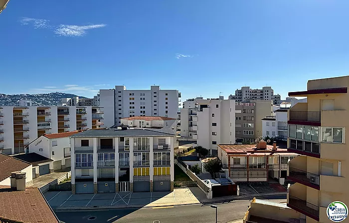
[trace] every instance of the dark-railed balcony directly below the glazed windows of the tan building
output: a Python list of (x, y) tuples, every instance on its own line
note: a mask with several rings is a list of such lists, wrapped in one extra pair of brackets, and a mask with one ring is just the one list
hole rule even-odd
[(289, 152), (320, 158), (320, 143), (289, 139)]

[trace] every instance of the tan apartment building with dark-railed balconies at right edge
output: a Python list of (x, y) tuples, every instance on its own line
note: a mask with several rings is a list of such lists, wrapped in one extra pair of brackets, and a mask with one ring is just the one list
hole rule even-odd
[(306, 215), (307, 223), (332, 222), (327, 207), (334, 201), (349, 205), (348, 86), (349, 76), (310, 80), (307, 91), (289, 93), (307, 103), (288, 113), (288, 150), (302, 156), (289, 162), (288, 178), (296, 183), (287, 206)]

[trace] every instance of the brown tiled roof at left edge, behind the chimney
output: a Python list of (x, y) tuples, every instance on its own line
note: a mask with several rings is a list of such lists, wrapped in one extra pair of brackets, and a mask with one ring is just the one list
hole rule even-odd
[(30, 166), (30, 163), (0, 153), (0, 181), (11, 176), (11, 172), (21, 171)]

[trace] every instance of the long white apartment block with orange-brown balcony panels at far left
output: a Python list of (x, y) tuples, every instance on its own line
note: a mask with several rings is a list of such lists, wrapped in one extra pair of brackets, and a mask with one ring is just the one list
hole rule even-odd
[(90, 106), (0, 107), (0, 150), (24, 152), (42, 134), (100, 128), (102, 120), (103, 110)]

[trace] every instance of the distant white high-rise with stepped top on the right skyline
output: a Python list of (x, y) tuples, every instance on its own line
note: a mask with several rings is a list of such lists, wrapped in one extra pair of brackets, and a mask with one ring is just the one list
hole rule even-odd
[(246, 102), (250, 100), (257, 101), (273, 101), (274, 105), (280, 105), (281, 96), (274, 95), (274, 90), (271, 87), (263, 87), (262, 89), (251, 89), (250, 87), (241, 87), (236, 89), (235, 95), (229, 95), (229, 99), (236, 102)]

